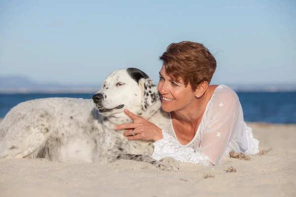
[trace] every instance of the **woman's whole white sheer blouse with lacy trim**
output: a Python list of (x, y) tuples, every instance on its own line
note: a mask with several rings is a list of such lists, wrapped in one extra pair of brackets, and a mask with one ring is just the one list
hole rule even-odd
[(247, 155), (259, 153), (259, 141), (244, 122), (243, 110), (236, 93), (220, 85), (209, 100), (194, 138), (186, 145), (179, 143), (171, 120), (163, 139), (154, 142), (152, 158), (173, 157), (182, 163), (222, 164), (230, 151)]

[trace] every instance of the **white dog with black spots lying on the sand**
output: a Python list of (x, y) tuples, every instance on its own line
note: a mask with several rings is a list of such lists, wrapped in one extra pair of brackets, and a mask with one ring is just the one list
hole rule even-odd
[(13, 107), (0, 123), (0, 157), (101, 164), (126, 159), (178, 169), (172, 158), (150, 157), (152, 141), (129, 141), (123, 131), (114, 130), (115, 125), (133, 122), (125, 108), (161, 129), (170, 126), (169, 114), (161, 110), (157, 87), (148, 75), (137, 68), (119, 69), (92, 100), (34, 99)]

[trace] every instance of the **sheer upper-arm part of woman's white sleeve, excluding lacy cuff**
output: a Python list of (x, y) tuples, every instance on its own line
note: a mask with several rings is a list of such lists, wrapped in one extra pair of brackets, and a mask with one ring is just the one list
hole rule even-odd
[(223, 90), (222, 88), (218, 87), (219, 94), (216, 93), (208, 109), (209, 114), (205, 119), (199, 146), (199, 150), (206, 154), (214, 165), (222, 163), (224, 152), (234, 131), (237, 131), (238, 124), (243, 122), (241, 105), (236, 93), (228, 87)]

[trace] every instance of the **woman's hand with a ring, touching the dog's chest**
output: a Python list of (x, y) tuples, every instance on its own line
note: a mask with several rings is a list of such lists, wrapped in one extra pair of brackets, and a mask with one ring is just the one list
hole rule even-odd
[[(115, 130), (126, 130), (122, 134), (126, 136), (128, 140), (153, 140), (157, 141), (163, 138), (162, 131), (153, 123), (150, 123), (148, 120), (133, 114), (129, 110), (125, 109), (124, 113), (133, 119), (134, 123), (127, 123), (123, 125), (115, 126)], [(133, 134), (133, 131), (135, 135)]]

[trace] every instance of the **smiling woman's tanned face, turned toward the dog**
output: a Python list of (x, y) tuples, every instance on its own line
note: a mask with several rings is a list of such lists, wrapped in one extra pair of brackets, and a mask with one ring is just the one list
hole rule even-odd
[(174, 81), (166, 75), (165, 66), (162, 66), (159, 72), (157, 89), (161, 97), (161, 107), (166, 112), (185, 109), (195, 97), (190, 84), (185, 87), (181, 79)]

